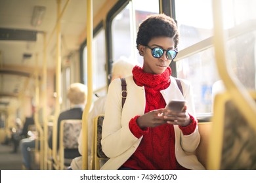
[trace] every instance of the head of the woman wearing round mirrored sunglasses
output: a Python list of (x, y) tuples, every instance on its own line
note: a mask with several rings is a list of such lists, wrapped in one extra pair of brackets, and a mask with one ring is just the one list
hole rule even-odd
[(177, 56), (179, 33), (175, 21), (165, 14), (153, 14), (144, 20), (137, 33), (137, 49), (143, 57), (143, 71), (160, 75)]

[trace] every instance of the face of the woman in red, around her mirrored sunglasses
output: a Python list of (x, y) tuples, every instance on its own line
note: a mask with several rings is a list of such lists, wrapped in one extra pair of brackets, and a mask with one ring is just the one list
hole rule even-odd
[(154, 58), (152, 50), (147, 46), (150, 48), (162, 48), (163, 50), (174, 50), (175, 42), (171, 37), (154, 37), (148, 42), (148, 45), (139, 45), (140, 54), (144, 56), (143, 71), (153, 75), (160, 75), (169, 67), (171, 60), (166, 58), (166, 51), (160, 58)]

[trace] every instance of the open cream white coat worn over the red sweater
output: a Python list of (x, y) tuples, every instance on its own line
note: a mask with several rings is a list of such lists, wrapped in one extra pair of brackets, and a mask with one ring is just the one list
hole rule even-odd
[[(111, 82), (106, 101), (106, 112), (102, 129), (102, 150), (110, 159), (101, 169), (118, 169), (131, 157), (143, 137), (137, 139), (129, 129), (129, 121), (137, 115), (144, 114), (146, 105), (144, 87), (137, 86), (133, 76), (126, 78), (127, 99), (123, 109), (121, 107), (121, 80)], [(192, 88), (186, 80), (181, 80), (184, 97), (180, 92), (175, 78), (171, 76), (171, 84), (161, 91), (165, 103), (172, 99), (185, 99), (187, 110), (194, 115)], [(204, 169), (194, 155), (200, 143), (198, 127), (194, 133), (183, 135), (178, 125), (175, 128), (175, 155), (177, 161), (187, 169)]]

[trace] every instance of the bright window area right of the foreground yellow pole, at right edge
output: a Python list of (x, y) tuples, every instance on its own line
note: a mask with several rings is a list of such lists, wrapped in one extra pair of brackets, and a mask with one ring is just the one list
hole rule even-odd
[[(255, 90), (255, 1), (223, 1), (224, 24), (228, 25), (228, 67), (248, 90)], [(233, 34), (235, 33), (235, 34)]]

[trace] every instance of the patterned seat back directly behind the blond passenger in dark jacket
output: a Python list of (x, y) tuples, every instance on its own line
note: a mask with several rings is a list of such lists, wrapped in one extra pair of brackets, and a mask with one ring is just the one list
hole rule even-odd
[[(78, 142), (79, 133), (82, 127), (82, 120), (62, 120), (60, 122), (60, 140), (59, 140), (59, 165), (61, 170), (65, 166), (69, 166), (72, 159), (64, 158), (64, 151), (77, 149), (78, 152)], [(78, 155), (77, 155), (78, 156)]]

